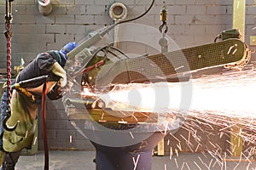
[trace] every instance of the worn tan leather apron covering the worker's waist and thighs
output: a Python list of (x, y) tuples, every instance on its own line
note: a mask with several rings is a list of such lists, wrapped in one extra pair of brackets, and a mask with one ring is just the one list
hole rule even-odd
[(24, 148), (30, 148), (34, 139), (37, 126), (38, 104), (33, 104), (23, 94), (13, 91), (11, 98), (11, 116), (7, 124), (12, 127), (16, 122), (15, 131), (3, 132), (3, 150), (16, 152)]

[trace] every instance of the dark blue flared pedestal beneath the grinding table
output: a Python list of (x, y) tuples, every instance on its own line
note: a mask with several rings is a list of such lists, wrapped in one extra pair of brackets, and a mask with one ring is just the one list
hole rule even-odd
[(96, 170), (151, 170), (151, 150), (164, 137), (163, 133), (153, 133), (141, 143), (125, 147), (109, 147), (91, 142), (96, 148)]

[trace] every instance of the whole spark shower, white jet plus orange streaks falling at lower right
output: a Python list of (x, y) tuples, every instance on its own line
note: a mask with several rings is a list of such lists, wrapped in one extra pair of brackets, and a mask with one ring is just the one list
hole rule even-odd
[[(191, 103), (189, 109), (183, 111), (180, 104), (183, 99), (182, 87), (189, 85), (192, 87)], [(241, 138), (241, 144), (246, 148), (234, 169), (238, 168), (242, 161), (248, 162), (247, 169), (252, 168), (252, 156), (256, 154), (256, 69), (253, 66), (245, 71), (224, 70), (215, 75), (190, 79), (189, 82), (134, 83), (118, 86), (110, 93), (98, 96), (105, 101), (107, 108), (113, 111), (157, 112), (159, 117), (166, 118), (169, 115), (173, 117), (175, 113), (177, 117), (186, 120), (181, 128), (188, 134), (176, 136), (170, 133), (172, 139), (177, 142), (176, 147), (170, 148), (170, 160), (174, 155), (173, 150), (178, 156), (178, 152), (184, 148), (192, 152), (204, 148), (207, 152), (202, 153), (209, 154), (212, 161), (206, 163), (199, 158), (201, 162), (194, 161), (196, 168), (212, 169), (219, 166), (226, 169), (228, 157), (234, 153), (236, 146), (240, 145), (230, 142), (232, 134)], [(168, 89), (168, 99), (165, 98), (166, 95), (162, 99), (169, 101), (168, 103), (154, 100), (156, 92), (166, 92), (166, 89), (159, 88)], [(201, 133), (206, 137), (202, 137)], [(202, 144), (205, 138), (208, 145)], [(226, 139), (224, 142), (230, 144), (230, 148), (223, 150), (220, 144), (211, 141), (213, 138)], [(178, 168), (177, 159), (174, 157), (173, 160)], [(183, 162), (182, 166), (190, 169), (187, 162)]]

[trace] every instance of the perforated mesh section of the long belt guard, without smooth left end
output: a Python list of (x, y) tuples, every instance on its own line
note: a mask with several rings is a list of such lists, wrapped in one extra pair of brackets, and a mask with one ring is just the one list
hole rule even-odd
[(185, 71), (225, 65), (242, 59), (245, 44), (237, 39), (184, 48), (166, 54), (126, 60), (130, 80), (169, 76)]

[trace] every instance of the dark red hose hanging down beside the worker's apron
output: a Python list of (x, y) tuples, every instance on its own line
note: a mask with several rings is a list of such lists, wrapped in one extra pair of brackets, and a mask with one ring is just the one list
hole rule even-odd
[(49, 170), (49, 151), (46, 133), (46, 111), (45, 111), (45, 97), (47, 93), (47, 82), (44, 83), (42, 95), (42, 122), (43, 122), (43, 137), (44, 137), (44, 170)]

